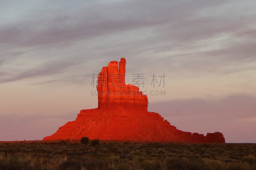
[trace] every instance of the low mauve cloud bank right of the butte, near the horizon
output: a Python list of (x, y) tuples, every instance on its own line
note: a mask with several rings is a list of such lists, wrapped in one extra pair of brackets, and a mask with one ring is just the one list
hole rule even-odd
[[(149, 109), (163, 116), (216, 116), (228, 115), (233, 119), (240, 116), (253, 117), (255, 110), (250, 108), (256, 102), (256, 96), (248, 94), (233, 94), (225, 98), (209, 99), (180, 99), (150, 103)], [(255, 108), (253, 106), (253, 108)], [(249, 110), (248, 110), (249, 109)], [(228, 113), (229, 112), (229, 113)], [(231, 115), (230, 115), (231, 114)]]

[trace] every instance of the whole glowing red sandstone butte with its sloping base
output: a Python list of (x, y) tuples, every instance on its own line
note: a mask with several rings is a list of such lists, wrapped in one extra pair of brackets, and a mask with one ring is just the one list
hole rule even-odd
[(98, 75), (98, 108), (81, 110), (75, 121), (67, 122), (43, 140), (89, 139), (124, 141), (170, 141), (225, 143), (222, 133), (184, 132), (161, 115), (148, 112), (148, 97), (134, 85), (125, 84), (125, 58), (111, 61)]

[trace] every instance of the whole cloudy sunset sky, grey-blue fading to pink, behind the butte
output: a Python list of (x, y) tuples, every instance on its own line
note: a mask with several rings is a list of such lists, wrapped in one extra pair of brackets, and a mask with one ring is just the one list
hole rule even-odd
[(41, 140), (96, 108), (92, 74), (125, 57), (126, 84), (140, 73), (153, 91), (149, 111), (256, 143), (255, 1), (3, 1), (0, 141)]

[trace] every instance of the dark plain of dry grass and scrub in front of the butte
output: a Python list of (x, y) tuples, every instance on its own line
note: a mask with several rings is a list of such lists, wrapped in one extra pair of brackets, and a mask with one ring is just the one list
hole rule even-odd
[(0, 170), (256, 170), (256, 144), (0, 143)]

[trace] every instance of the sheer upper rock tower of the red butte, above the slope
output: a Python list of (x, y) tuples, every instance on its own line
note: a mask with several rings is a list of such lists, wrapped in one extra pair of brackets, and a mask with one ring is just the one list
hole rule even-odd
[(111, 61), (98, 76), (98, 108), (123, 107), (132, 110), (148, 110), (148, 97), (135, 85), (125, 84), (125, 58)]

